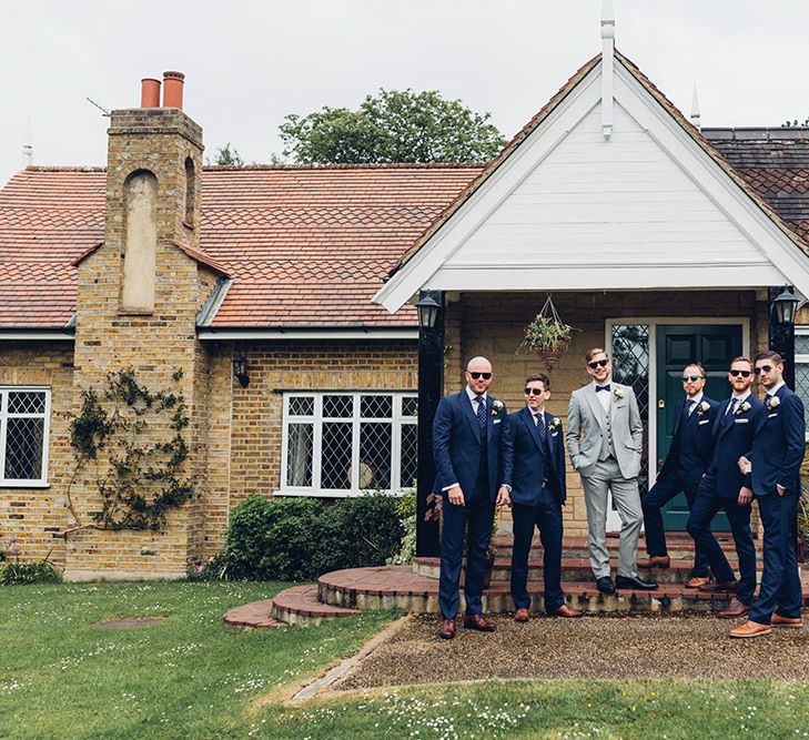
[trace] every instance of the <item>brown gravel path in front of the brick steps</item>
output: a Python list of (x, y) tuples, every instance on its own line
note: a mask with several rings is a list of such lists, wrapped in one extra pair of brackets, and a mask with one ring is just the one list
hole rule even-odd
[(739, 620), (705, 616), (495, 617), (497, 631), (437, 637), (437, 617), (413, 617), (336, 682), (335, 690), (486, 678), (809, 679), (809, 630), (731, 640)]

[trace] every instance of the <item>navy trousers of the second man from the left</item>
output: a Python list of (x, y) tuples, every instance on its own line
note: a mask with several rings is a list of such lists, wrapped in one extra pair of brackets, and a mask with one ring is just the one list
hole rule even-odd
[(512, 550), (512, 599), (515, 609), (529, 609), (528, 555), (534, 527), (539, 528), (545, 574), (545, 611), (553, 614), (565, 604), (562, 592), (562, 506), (548, 488), (534, 505), (514, 504), (514, 549)]

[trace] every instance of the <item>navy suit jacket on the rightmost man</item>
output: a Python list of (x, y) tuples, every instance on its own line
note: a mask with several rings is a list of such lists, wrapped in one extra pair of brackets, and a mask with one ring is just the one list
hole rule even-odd
[(800, 464), (806, 448), (803, 402), (786, 385), (776, 393), (779, 404), (761, 404), (756, 415), (752, 449), (746, 457), (752, 462), (747, 485), (756, 496), (776, 493), (781, 486), (789, 494), (800, 495)]

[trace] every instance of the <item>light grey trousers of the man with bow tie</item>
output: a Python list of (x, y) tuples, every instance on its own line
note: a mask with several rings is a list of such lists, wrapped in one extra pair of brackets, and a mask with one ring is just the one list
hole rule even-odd
[(582, 476), (587, 507), (589, 529), (590, 567), (596, 578), (609, 576), (609, 553), (607, 551), (607, 491), (613, 493), (620, 515), (620, 540), (618, 549), (618, 575), (635, 576), (638, 571), (638, 536), (644, 524), (637, 478), (625, 478), (618, 462), (609, 458), (596, 463), (593, 474)]

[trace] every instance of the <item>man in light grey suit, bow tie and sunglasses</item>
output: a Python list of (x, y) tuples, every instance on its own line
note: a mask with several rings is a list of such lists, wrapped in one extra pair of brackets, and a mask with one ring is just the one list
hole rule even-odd
[[(590, 567), (598, 590), (648, 590), (654, 580), (638, 577), (638, 535), (644, 523), (638, 493), (644, 427), (635, 392), (611, 382), (613, 365), (601, 347), (586, 355), (593, 383), (574, 391), (567, 409), (567, 452), (582, 476), (589, 528)], [(607, 493), (620, 514), (618, 575), (613, 582), (607, 551)]]

